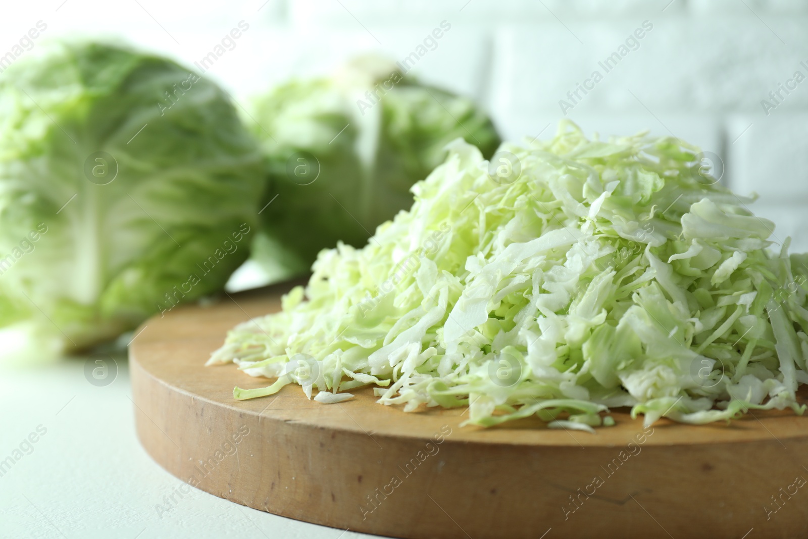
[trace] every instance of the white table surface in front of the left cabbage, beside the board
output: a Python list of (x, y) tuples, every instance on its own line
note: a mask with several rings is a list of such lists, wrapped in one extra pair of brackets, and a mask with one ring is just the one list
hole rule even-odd
[[(125, 356), (112, 384), (87, 381), (86, 358), (36, 367), (0, 365), (0, 537), (374, 537), (257, 511), (191, 489), (137, 440)], [(46, 432), (36, 443), (28, 436)], [(23, 451), (14, 453), (23, 444)], [(32, 448), (30, 450), (29, 448)], [(162, 507), (162, 511), (161, 511)]]

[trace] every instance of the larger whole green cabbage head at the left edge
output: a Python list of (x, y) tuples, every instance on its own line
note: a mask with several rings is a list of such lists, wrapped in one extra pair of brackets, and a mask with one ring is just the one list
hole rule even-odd
[(78, 351), (222, 288), (263, 162), (225, 94), (124, 46), (55, 43), (0, 77), (0, 326)]

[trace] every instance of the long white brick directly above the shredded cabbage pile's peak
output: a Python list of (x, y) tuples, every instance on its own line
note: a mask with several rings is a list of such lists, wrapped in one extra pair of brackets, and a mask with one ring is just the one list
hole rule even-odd
[[(558, 101), (569, 100), (566, 92), (597, 69), (604, 78), (575, 105), (576, 112), (647, 112), (647, 107), (654, 114), (762, 113), (760, 100), (778, 82), (785, 83), (795, 69), (808, 74), (800, 65), (808, 61), (808, 33), (800, 19), (773, 19), (769, 26), (776, 28), (775, 35), (754, 17), (660, 15), (609, 24), (568, 23), (570, 32), (558, 23), (500, 28), (494, 45), (498, 111), (560, 115)], [(607, 73), (599, 62), (643, 20), (653, 29)], [(806, 53), (801, 57), (797, 50)], [(802, 90), (792, 92), (783, 106), (808, 106), (808, 84)]]

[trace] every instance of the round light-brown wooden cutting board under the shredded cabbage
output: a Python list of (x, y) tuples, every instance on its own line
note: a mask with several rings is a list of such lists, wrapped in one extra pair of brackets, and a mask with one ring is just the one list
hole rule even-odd
[(789, 411), (646, 430), (617, 410), (616, 426), (591, 435), (539, 420), (460, 427), (465, 408), (404, 413), (369, 390), (332, 405), (297, 385), (234, 401), (235, 385), (269, 382), (204, 362), (232, 326), (280, 309), (287, 289), (177, 307), (130, 347), (141, 443), (192, 486), (413, 539), (808, 537), (808, 418)]

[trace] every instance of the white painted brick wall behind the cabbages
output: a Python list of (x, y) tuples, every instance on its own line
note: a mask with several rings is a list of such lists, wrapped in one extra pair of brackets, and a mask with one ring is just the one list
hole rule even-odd
[[(793, 235), (808, 250), (808, 79), (777, 102), (769, 97), (797, 69), (808, 78), (806, 0), (43, 3), (6, 7), (0, 50), (44, 19), (44, 37), (124, 36), (190, 65), (246, 19), (250, 31), (208, 72), (239, 99), (289, 76), (327, 72), (361, 51), (401, 60), (445, 20), (451, 31), (414, 73), (478, 99), (510, 139), (545, 128), (549, 137), (565, 116), (559, 100), (569, 101), (567, 92), (598, 69), (603, 79), (567, 117), (587, 133), (648, 128), (719, 154), (723, 181), (759, 193), (752, 209), (781, 227), (778, 238)], [(653, 29), (605, 73), (599, 61), (645, 20)], [(768, 114), (762, 99), (776, 104)]]

